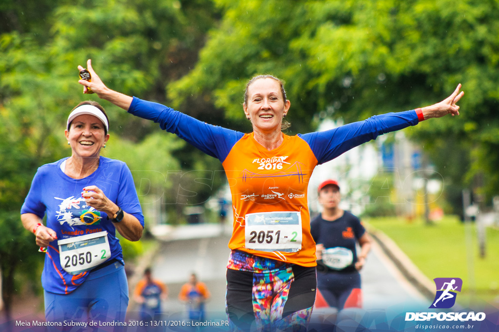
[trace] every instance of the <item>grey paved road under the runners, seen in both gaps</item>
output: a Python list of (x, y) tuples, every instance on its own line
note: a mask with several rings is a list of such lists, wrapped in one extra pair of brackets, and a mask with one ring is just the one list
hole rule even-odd
[[(212, 294), (207, 318), (225, 317), (229, 234), (230, 229), (222, 232), (219, 225), (200, 224), (178, 227), (165, 236), (169, 241), (162, 243), (150, 266), (153, 276), (169, 288), (169, 299), (163, 306), (169, 319), (185, 318), (178, 294), (192, 272), (206, 283)], [(376, 243), (361, 274), (364, 310), (428, 306), (428, 301), (406, 281)]]

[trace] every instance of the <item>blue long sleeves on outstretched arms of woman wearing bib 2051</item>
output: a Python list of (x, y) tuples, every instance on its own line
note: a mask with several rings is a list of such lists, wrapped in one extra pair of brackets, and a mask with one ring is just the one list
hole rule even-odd
[[(211, 125), (164, 105), (136, 97), (128, 112), (159, 123), (163, 130), (176, 134), (221, 162), (224, 162), (232, 147), (244, 136), (242, 132)], [(355, 146), (376, 139), (379, 135), (416, 125), (418, 122), (416, 111), (411, 110), (374, 115), (363, 121), (298, 136), (307, 142), (318, 163), (322, 164)]]

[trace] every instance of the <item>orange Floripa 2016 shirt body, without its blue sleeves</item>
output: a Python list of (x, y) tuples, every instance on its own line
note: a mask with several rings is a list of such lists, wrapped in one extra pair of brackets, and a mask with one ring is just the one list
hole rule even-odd
[[(308, 144), (298, 136), (284, 135), (278, 148), (267, 151), (254, 140), (253, 133), (245, 134), (222, 165), (231, 187), (234, 212), (234, 231), (229, 248), (303, 266), (315, 266), (315, 242), (310, 235), (307, 186), (317, 159)], [(300, 214), (301, 249), (297, 252), (267, 252), (246, 248), (245, 216), (279, 211)], [(253, 241), (257, 243), (262, 240), (266, 243), (269, 239), (267, 232), (265, 236), (258, 236), (262, 230), (255, 229)], [(254, 234), (250, 238), (252, 236)]]

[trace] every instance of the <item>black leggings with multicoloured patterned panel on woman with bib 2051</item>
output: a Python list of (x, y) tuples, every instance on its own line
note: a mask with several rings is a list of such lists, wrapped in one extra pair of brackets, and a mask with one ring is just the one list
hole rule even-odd
[(227, 270), (232, 331), (306, 331), (317, 287), (315, 267), (280, 265), (263, 272)]

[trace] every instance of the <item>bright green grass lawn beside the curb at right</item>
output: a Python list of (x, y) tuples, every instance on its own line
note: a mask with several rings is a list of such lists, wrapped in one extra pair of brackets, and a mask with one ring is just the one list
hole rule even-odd
[(463, 279), (462, 305), (486, 301), (499, 307), (499, 230), (487, 229), (486, 257), (479, 257), (477, 228), (446, 217), (433, 225), (401, 218), (365, 219), (383, 231), (419, 269), (434, 278)]

